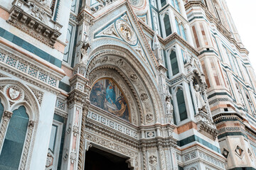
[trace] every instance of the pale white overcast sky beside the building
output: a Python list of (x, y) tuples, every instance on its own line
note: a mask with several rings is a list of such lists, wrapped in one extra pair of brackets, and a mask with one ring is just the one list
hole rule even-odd
[(243, 45), (256, 71), (256, 0), (226, 0)]

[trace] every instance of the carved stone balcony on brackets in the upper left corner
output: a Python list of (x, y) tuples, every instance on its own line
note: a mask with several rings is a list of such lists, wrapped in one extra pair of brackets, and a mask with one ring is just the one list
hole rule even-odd
[(7, 22), (52, 47), (62, 26), (52, 21), (50, 8), (38, 1), (15, 0), (13, 5)]

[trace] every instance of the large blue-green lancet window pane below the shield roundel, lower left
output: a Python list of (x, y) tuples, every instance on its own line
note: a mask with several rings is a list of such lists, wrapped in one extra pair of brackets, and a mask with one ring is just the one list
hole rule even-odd
[(0, 169), (18, 169), (28, 128), (26, 108), (20, 106), (11, 116), (0, 155)]

